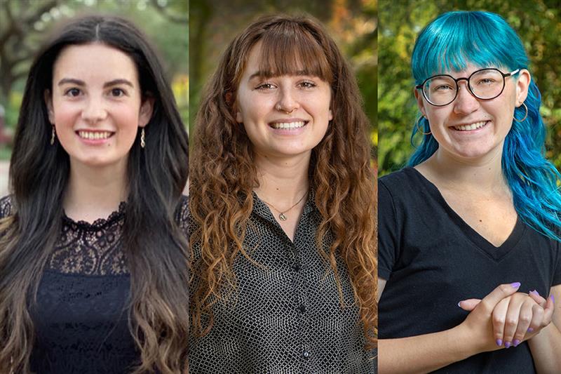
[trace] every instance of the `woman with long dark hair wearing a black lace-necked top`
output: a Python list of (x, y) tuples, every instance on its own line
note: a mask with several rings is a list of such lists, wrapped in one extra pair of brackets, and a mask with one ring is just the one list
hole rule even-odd
[(2, 373), (180, 373), (187, 133), (146, 38), (70, 22), (36, 57), (0, 201)]

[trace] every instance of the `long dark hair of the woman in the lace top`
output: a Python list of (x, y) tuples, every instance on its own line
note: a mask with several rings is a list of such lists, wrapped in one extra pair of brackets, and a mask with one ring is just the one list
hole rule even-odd
[[(121, 18), (88, 16), (61, 29), (41, 50), (30, 72), (10, 166), (12, 215), (1, 222), (0, 371), (29, 372), (34, 327), (29, 307), (62, 225), (69, 156), (49, 145), (44, 93), (52, 92), (53, 65), (67, 46), (100, 43), (135, 62), (144, 98), (154, 111), (128, 154), (128, 201), (123, 248), (130, 269), (130, 332), (140, 351), (135, 373), (180, 373), (186, 361), (187, 239), (175, 222), (187, 182), (188, 141), (173, 93), (153, 49)], [(140, 132), (139, 132), (140, 133)]]

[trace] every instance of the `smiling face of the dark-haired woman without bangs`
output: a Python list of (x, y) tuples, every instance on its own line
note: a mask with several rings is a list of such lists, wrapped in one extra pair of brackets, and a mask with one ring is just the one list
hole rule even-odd
[(139, 126), (151, 117), (142, 103), (133, 60), (104, 44), (64, 48), (46, 93), (49, 120), (71, 166), (126, 166)]

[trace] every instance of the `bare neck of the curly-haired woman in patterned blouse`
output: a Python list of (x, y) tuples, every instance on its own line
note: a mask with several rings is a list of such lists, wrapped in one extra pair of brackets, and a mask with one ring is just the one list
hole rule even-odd
[(257, 195), (281, 211), (297, 203), (309, 189), (310, 154), (286, 159), (255, 155)]

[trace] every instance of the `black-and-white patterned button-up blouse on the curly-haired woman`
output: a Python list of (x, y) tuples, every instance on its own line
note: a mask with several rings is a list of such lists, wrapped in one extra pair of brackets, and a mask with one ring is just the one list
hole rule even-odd
[[(236, 292), (228, 302), (214, 305), (215, 323), (208, 335), (191, 336), (190, 373), (374, 373), (374, 353), (365, 350), (346, 266), (339, 260), (342, 308), (334, 274), (317, 249), (320, 214), (312, 196), (294, 242), (269, 207), (256, 194), (253, 199), (244, 247), (258, 265), (243, 255), (236, 258)], [(193, 250), (196, 266), (200, 247)], [(196, 274), (196, 268), (191, 272)]]

